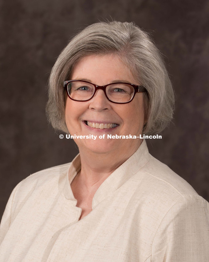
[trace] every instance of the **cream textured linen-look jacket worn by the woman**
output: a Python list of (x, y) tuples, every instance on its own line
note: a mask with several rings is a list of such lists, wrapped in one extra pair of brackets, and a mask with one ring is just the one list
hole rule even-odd
[(146, 142), (98, 188), (79, 220), (71, 164), (13, 190), (0, 227), (1, 262), (208, 262), (209, 203), (149, 153)]

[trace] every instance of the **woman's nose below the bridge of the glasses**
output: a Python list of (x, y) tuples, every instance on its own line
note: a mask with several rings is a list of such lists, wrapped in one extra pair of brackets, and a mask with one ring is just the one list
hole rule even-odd
[(97, 90), (95, 95), (89, 101), (89, 108), (97, 111), (108, 110), (111, 107), (111, 102), (107, 99), (105, 92), (101, 89)]

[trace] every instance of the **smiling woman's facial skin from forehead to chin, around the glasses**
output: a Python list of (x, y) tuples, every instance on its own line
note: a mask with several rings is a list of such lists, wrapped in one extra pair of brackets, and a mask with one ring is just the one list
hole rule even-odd
[[(116, 80), (140, 85), (116, 55), (84, 57), (75, 65), (70, 80), (86, 80), (99, 86)], [(134, 99), (128, 104), (115, 104), (108, 101), (101, 89), (97, 90), (91, 100), (85, 102), (73, 101), (67, 97), (65, 121), (71, 135), (97, 136), (95, 140), (93, 138), (74, 139), (80, 152), (81, 150), (90, 150), (95, 153), (124, 152), (124, 150), (127, 152), (133, 146), (137, 149), (141, 143), (140, 138), (109, 139), (107, 134), (139, 136), (142, 133), (144, 125), (143, 93), (136, 93)], [(88, 126), (87, 121), (95, 123), (94, 125), (100, 126), (101, 129)], [(117, 124), (117, 126), (103, 128), (108, 127), (108, 124)], [(105, 138), (99, 139), (99, 136), (103, 134)]]

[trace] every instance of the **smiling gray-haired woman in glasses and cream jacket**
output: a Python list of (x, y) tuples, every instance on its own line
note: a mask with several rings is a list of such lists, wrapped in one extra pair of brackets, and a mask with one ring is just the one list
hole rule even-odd
[(159, 51), (133, 23), (76, 35), (51, 72), (47, 114), (80, 154), (15, 187), (0, 261), (209, 261), (209, 203), (140, 138), (168, 125), (173, 100)]

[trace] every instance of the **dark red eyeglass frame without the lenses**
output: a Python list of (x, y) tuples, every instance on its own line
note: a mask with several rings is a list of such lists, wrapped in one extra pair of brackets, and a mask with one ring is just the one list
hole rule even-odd
[[(134, 96), (136, 95), (137, 92), (146, 92), (146, 91), (147, 91), (146, 88), (145, 88), (144, 86), (142, 86), (142, 85), (135, 85), (135, 84), (124, 83), (124, 82), (111, 83), (111, 84), (106, 84), (106, 85), (103, 85), (103, 86), (99, 86), (99, 85), (93, 84), (95, 90), (94, 90), (93, 96), (92, 96), (91, 98), (89, 98), (89, 99), (87, 99), (87, 100), (75, 100), (75, 99), (73, 99), (72, 97), (69, 96), (69, 93), (68, 93), (68, 84), (69, 84), (70, 82), (78, 82), (78, 81), (84, 82), (84, 83), (88, 83), (88, 84), (93, 84), (93, 83), (91, 83), (91, 82), (84, 81), (84, 80), (68, 80), (68, 81), (64, 81), (64, 88), (66, 89), (66, 92), (67, 92), (68, 97), (69, 97), (70, 99), (72, 99), (72, 100), (74, 100), (74, 101), (78, 101), (78, 102), (86, 102), (86, 101), (89, 101), (90, 99), (93, 98), (93, 96), (95, 95), (95, 93), (97, 92), (98, 89), (102, 89), (102, 90), (104, 91), (105, 96), (107, 97), (107, 99), (108, 99), (110, 102), (115, 103), (115, 104), (127, 104), (127, 103), (130, 103), (130, 102), (134, 99)], [(123, 102), (123, 103), (114, 102), (114, 101), (110, 100), (110, 99), (108, 98), (107, 94), (106, 94), (106, 87), (107, 87), (108, 85), (112, 85), (112, 84), (128, 84), (128, 85), (132, 86), (132, 87), (134, 88), (134, 94), (133, 94), (132, 99), (131, 99), (130, 101), (128, 101), (128, 102)]]

